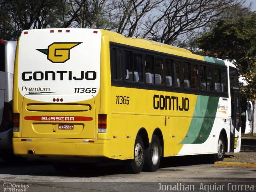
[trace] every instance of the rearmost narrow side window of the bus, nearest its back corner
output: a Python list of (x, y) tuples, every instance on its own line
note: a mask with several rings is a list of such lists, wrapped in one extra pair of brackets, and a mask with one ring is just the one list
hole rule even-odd
[(111, 61), (112, 78), (114, 80), (122, 80), (121, 71), (121, 50), (112, 49), (112, 61)]

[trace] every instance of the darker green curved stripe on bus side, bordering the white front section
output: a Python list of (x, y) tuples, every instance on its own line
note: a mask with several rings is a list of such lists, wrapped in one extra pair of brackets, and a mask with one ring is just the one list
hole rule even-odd
[(209, 98), (201, 130), (198, 134), (198, 137), (192, 144), (202, 144), (208, 139), (216, 117), (219, 99), (219, 97)]

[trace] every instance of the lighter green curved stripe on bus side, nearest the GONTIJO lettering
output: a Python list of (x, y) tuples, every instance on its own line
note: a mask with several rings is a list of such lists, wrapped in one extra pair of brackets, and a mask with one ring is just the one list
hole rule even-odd
[(188, 132), (186, 133), (186, 135), (188, 135), (189, 137), (185, 137), (182, 140), (182, 142), (180, 142), (179, 144), (191, 144), (198, 137), (198, 134), (203, 124), (203, 120), (204, 120), (203, 117), (206, 114), (208, 99), (209, 99), (209, 96), (202, 96), (202, 95), (197, 96), (193, 118), (188, 128)]

